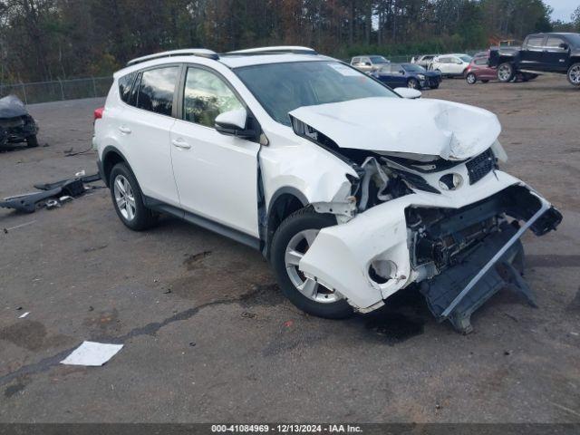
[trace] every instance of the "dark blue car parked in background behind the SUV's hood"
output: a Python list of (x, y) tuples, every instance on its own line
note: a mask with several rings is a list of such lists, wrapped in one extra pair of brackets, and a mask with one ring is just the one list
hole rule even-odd
[(390, 63), (371, 75), (391, 88), (437, 89), (441, 82), (441, 73), (427, 71), (416, 63)]

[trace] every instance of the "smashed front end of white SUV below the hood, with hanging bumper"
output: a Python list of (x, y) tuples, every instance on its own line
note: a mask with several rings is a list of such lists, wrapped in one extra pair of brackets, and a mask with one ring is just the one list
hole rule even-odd
[(337, 215), (341, 225), (320, 231), (300, 261), (304, 275), (362, 313), (419, 285), (432, 314), (461, 333), (472, 330), (471, 314), (503, 287), (536, 304), (522, 278), (520, 237), (527, 229), (536, 236), (556, 229), (562, 215), (498, 169), (506, 156), (496, 132), (487, 148), (450, 160), (443, 145), (430, 155), (340, 148), (294, 117), (293, 127), (359, 175), (347, 176), (350, 197), (314, 204), (319, 212)]

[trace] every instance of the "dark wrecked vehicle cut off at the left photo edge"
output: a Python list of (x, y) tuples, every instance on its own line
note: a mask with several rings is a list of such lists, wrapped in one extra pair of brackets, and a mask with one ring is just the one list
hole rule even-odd
[(37, 133), (38, 126), (24, 102), (15, 95), (0, 99), (0, 146), (26, 142), (30, 148), (37, 147)]

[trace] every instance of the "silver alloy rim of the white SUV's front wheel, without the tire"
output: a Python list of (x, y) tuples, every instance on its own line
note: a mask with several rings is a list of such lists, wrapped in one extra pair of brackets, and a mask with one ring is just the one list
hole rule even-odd
[(284, 261), (288, 277), (296, 289), (311, 301), (327, 304), (338, 301), (341, 296), (314, 279), (304, 276), (298, 268), (300, 260), (314, 243), (319, 231), (318, 229), (304, 229), (295, 234), (288, 242)]

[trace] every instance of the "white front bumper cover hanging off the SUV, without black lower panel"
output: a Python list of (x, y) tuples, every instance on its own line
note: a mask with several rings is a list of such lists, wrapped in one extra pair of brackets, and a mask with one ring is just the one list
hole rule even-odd
[[(536, 235), (542, 235), (555, 228), (562, 218), (546, 199), (541, 198), (520, 180), (501, 171), (496, 171), (496, 174), (490, 173), (473, 186), (459, 189), (457, 192), (448, 192), (445, 195), (421, 192), (396, 198), (366, 210), (346, 224), (324, 228), (304, 255), (299, 267), (304, 275), (315, 278), (324, 286), (343, 295), (357, 311), (372, 311), (381, 306), (384, 299), (402, 288), (424, 281), (433, 275), (442, 275), (439, 266), (432, 274), (430, 273), (432, 267), (418, 265), (414, 261), (416, 238), (406, 221), (407, 208), (445, 208), (461, 211), (462, 208), (473, 206), (479, 201), (485, 202), (488, 198), (491, 201), (494, 196), (502, 196), (504, 192), (511, 195), (509, 189), (519, 189), (517, 196), (521, 197), (521, 200), (517, 199), (517, 204), (511, 207), (504, 203), (513, 202), (512, 197), (503, 202), (499, 201), (497, 213), (506, 214), (526, 224), (522, 227), (522, 231), (517, 231), (517, 237), (513, 241), (510, 237), (509, 244), (506, 242), (499, 246), (497, 251), (491, 250), (493, 256), (490, 258), (494, 258), (494, 261), (488, 266), (490, 270), (503, 259), (503, 255), (496, 257), (496, 254), (509, 245), (505, 249), (505, 254), (528, 227), (533, 229)], [(391, 262), (389, 279), (381, 280), (386, 282), (378, 282), (376, 276), (375, 279), (372, 278), (370, 266), (376, 261)], [(484, 266), (488, 263), (489, 261), (485, 262)], [(444, 271), (449, 273), (456, 267), (449, 266), (444, 268)], [(475, 286), (483, 275), (478, 276), (471, 287)], [(465, 286), (470, 283), (471, 278), (474, 278), (469, 274), (466, 276), (469, 279)], [(464, 288), (459, 289), (457, 295)], [(469, 292), (470, 289), (466, 294)], [(437, 315), (443, 319), (450, 315), (442, 314), (443, 311)]]

